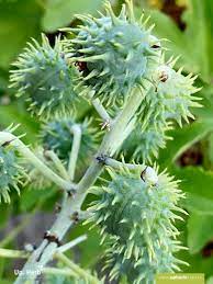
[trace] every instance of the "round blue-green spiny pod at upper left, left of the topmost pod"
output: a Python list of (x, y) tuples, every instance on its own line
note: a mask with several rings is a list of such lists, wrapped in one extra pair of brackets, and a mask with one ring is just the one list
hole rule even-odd
[(29, 109), (38, 116), (70, 112), (77, 99), (74, 86), (78, 70), (68, 64), (59, 38), (54, 48), (45, 35), (41, 45), (35, 39), (33, 43), (27, 43), (25, 53), (13, 64), (18, 69), (11, 70), (10, 87), (18, 89), (18, 95), (25, 95)]

